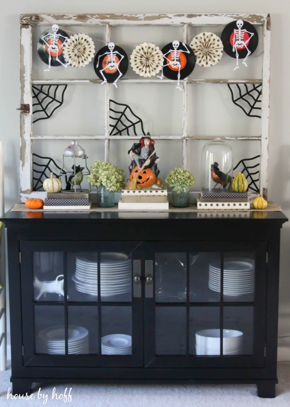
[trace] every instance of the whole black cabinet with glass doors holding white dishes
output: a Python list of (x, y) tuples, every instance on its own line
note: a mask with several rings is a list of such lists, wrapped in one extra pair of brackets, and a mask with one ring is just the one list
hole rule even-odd
[(7, 213), (13, 392), (53, 377), (274, 397), (287, 219), (254, 214)]

